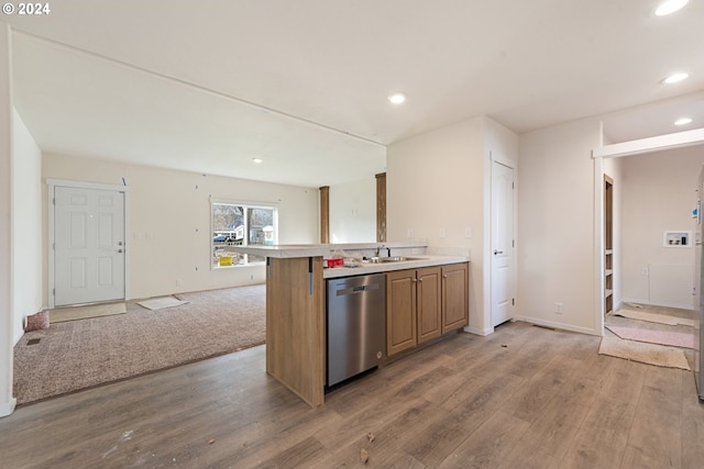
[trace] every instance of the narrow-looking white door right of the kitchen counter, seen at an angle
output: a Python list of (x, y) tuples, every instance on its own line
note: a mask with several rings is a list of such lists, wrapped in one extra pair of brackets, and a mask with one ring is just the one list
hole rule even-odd
[(514, 169), (492, 164), (492, 325), (514, 316)]

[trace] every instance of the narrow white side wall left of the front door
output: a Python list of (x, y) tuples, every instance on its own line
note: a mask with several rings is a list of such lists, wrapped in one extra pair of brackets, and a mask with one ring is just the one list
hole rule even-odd
[(24, 333), (24, 317), (42, 310), (42, 152), (20, 114), (13, 111), (12, 116), (12, 309), (16, 344)]

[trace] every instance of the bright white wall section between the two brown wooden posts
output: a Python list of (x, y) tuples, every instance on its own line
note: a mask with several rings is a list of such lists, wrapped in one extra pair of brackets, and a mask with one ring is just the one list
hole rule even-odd
[(330, 242), (376, 241), (376, 178), (330, 186)]

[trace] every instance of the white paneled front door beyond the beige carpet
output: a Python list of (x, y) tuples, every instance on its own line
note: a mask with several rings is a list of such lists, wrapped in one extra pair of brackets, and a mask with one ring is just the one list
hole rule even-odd
[(124, 299), (124, 192), (54, 189), (54, 305)]

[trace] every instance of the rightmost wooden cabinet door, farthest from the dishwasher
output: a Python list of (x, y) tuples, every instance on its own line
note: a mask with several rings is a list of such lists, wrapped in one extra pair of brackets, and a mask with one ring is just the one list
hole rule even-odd
[(442, 267), (442, 334), (470, 323), (468, 264)]

